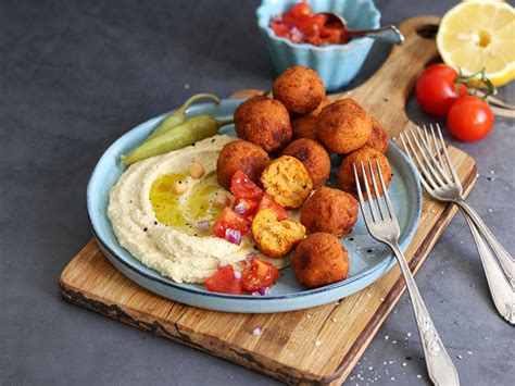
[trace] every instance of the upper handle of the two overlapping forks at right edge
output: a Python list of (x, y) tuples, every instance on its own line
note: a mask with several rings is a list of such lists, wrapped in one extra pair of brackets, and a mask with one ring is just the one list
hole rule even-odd
[(504, 273), (510, 287), (512, 288), (512, 291), (515, 291), (515, 260), (513, 260), (512, 256), (504, 249), (495, 236), (493, 236), (487, 224), (485, 224), (485, 222), (472, 207), (461, 199), (454, 202), (462, 210), (465, 216), (474, 223), (485, 241), (488, 242), (497, 262)]

